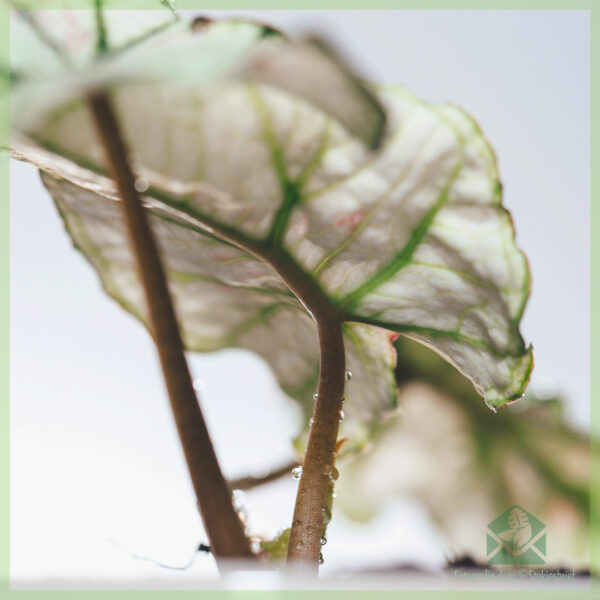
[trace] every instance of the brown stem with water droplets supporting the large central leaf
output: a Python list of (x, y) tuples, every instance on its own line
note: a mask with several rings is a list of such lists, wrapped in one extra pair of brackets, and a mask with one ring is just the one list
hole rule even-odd
[(314, 317), (321, 351), (319, 384), (296, 496), (288, 562), (292, 568), (299, 565), (316, 571), (344, 397), (346, 363), (339, 316), (325, 312), (316, 313)]

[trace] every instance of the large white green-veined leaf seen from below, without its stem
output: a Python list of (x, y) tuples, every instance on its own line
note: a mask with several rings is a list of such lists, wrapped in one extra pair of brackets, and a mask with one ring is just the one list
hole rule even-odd
[[(377, 152), (315, 104), (265, 83), (111, 89), (186, 346), (258, 353), (310, 412), (315, 326), (280, 277), (243, 248), (288, 256), (348, 319), (353, 377), (342, 435), (355, 436), (395, 404), (396, 333), (452, 362), (492, 407), (523, 393), (532, 365), (519, 334), (529, 272), (489, 144), (458, 108), (428, 105), (398, 86), (371, 92), (387, 116)], [(84, 103), (26, 133), (14, 155), (44, 171), (105, 290), (144, 320)]]

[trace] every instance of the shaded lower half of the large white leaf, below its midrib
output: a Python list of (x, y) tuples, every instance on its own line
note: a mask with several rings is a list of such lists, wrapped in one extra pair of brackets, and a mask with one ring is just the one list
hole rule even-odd
[[(76, 179), (74, 173), (71, 173)], [(143, 293), (116, 193), (43, 174), (76, 247), (98, 271), (106, 292), (146, 323)], [(109, 190), (109, 191), (107, 191)], [(186, 347), (208, 352), (240, 347), (271, 366), (281, 387), (306, 414), (319, 374), (315, 325), (300, 302), (263, 262), (195, 228), (168, 207), (148, 205)], [(348, 386), (342, 434), (361, 442), (370, 424), (395, 402), (395, 353), (389, 332), (344, 324)]]

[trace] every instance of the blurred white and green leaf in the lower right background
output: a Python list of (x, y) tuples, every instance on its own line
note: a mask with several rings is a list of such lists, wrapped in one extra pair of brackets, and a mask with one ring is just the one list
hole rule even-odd
[(529, 392), (494, 414), (434, 352), (405, 338), (396, 348), (401, 414), (344, 463), (337, 507), (368, 520), (395, 496), (412, 496), (450, 560), (485, 563), (487, 523), (518, 504), (546, 524), (548, 566), (589, 569), (600, 537), (590, 522), (590, 439), (565, 421), (561, 400)]

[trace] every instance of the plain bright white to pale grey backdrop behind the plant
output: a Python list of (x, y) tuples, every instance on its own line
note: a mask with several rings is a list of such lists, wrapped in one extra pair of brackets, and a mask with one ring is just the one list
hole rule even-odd
[[(203, 14), (221, 15), (224, 11)], [(236, 15), (241, 12), (234, 13)], [(585, 11), (253, 11), (291, 33), (331, 36), (365, 77), (452, 101), (499, 156), (505, 204), (533, 292), (522, 330), (534, 385), (556, 385), (589, 424), (589, 16)], [(292, 457), (300, 427), (260, 359), (191, 357), (227, 475)], [(85, 585), (214, 574), (147, 332), (100, 290), (71, 248), (35, 170), (11, 168), (11, 576)], [(290, 479), (248, 500), (257, 531), (291, 520)], [(371, 528), (337, 515), (324, 573), (448, 551), (420, 510), (398, 501)], [(47, 584), (46, 584), (47, 585)]]

